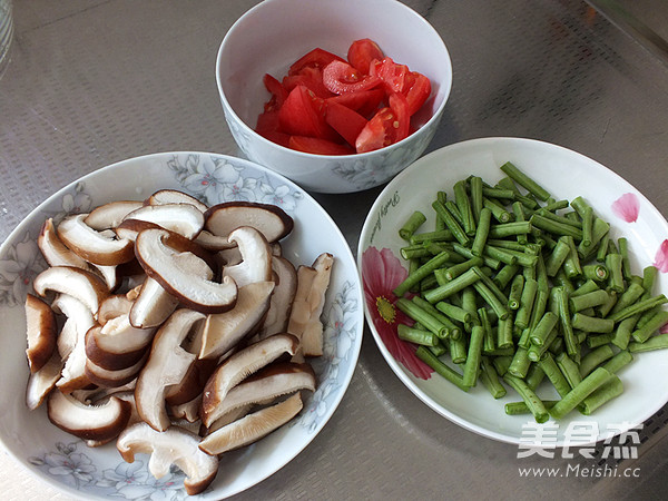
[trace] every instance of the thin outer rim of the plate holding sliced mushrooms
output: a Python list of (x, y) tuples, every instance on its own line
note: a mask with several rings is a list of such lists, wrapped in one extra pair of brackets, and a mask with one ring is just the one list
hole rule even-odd
[[(325, 207), (323, 207), (320, 204), (320, 202), (317, 202), (310, 193), (304, 190), (304, 188), (302, 188), (299, 185), (297, 185), (292, 179), (285, 177), (281, 173), (274, 171), (274, 170), (272, 170), (261, 164), (257, 164), (253, 160), (236, 157), (233, 155), (213, 153), (213, 151), (204, 151), (204, 150), (186, 150), (186, 149), (184, 149), (184, 150), (163, 150), (163, 151), (149, 153), (149, 154), (138, 155), (135, 157), (128, 157), (128, 158), (125, 158), (121, 160), (112, 161), (110, 164), (107, 164), (107, 165), (98, 168), (98, 169), (86, 173), (86, 174), (81, 175), (80, 177), (78, 177), (71, 181), (68, 181), (65, 185), (56, 188), (49, 196), (47, 196), (42, 202), (37, 204), (26, 216), (23, 216), (21, 218), (21, 220), (11, 229), (11, 232), (9, 233), (9, 235), (7, 236), (4, 242), (2, 242), (0, 244), (0, 255), (4, 254), (7, 252), (6, 250), (7, 247), (9, 245), (11, 245), (13, 243), (13, 240), (16, 240), (18, 238), (17, 235), (21, 234), (31, 224), (33, 224), (33, 219), (36, 217), (40, 217), (40, 214), (43, 212), (45, 208), (48, 208), (50, 205), (52, 205), (55, 202), (57, 202), (65, 194), (69, 193), (69, 190), (73, 189), (79, 183), (85, 183), (87, 180), (90, 180), (91, 178), (95, 178), (96, 176), (104, 175), (104, 173), (121, 168), (125, 165), (129, 165), (129, 164), (134, 164), (134, 163), (141, 163), (141, 161), (150, 161), (153, 159), (159, 159), (159, 158), (168, 158), (168, 157), (177, 156), (177, 155), (178, 156), (198, 155), (198, 156), (208, 156), (208, 157), (228, 159), (228, 160), (236, 163), (237, 165), (245, 165), (245, 166), (252, 167), (254, 169), (257, 169), (258, 171), (264, 173), (266, 176), (274, 176), (277, 179), (279, 179), (282, 183), (289, 185), (292, 187), (292, 189), (294, 189), (295, 191), (299, 191), (302, 194), (303, 200), (310, 200), (311, 204), (315, 204), (314, 208), (320, 209), (322, 216), (331, 223), (332, 227), (330, 229), (333, 234), (335, 234), (337, 236), (337, 239), (341, 242), (342, 250), (345, 253), (346, 263), (350, 263), (353, 266), (352, 268), (348, 268), (346, 276), (350, 276), (351, 281), (354, 279), (354, 283), (352, 283), (352, 285), (354, 287), (353, 296), (354, 296), (354, 299), (357, 302), (357, 308), (355, 310), (354, 315), (355, 315), (355, 318), (357, 322), (356, 322), (354, 342), (348, 352), (350, 356), (347, 357), (347, 362), (348, 362), (347, 365), (351, 369), (347, 371), (345, 376), (341, 379), (341, 385), (340, 385), (341, 391), (338, 391), (338, 394), (336, 395), (336, 397), (332, 400), (331, 405), (327, 407), (326, 412), (322, 415), (322, 419), (320, 419), (317, 426), (307, 434), (307, 436), (305, 438), (303, 443), (299, 444), (298, 449), (295, 451), (294, 454), (287, 454), (285, 456), (285, 459), (282, 459), (279, 462), (276, 462), (276, 468), (271, 469), (271, 471), (267, 474), (258, 477), (254, 483), (252, 483), (240, 490), (237, 489), (234, 492), (229, 492), (226, 494), (226, 497), (233, 497), (233, 495), (236, 495), (240, 492), (244, 492), (244, 491), (253, 488), (254, 485), (259, 484), (267, 478), (277, 473), (281, 469), (283, 469), (286, 464), (292, 462), (297, 455), (299, 455), (315, 440), (317, 434), (325, 428), (325, 425), (330, 422), (330, 420), (332, 419), (332, 416), (334, 415), (334, 413), (341, 405), (341, 402), (343, 401), (345, 393), (350, 389), (352, 379), (357, 370), (357, 363), (358, 363), (358, 358), (361, 355), (362, 340), (363, 340), (364, 327), (365, 327), (364, 308), (363, 308), (364, 294), (363, 294), (363, 288), (362, 288), (362, 282), (360, 281), (360, 275), (357, 274), (356, 261), (355, 261), (355, 256), (353, 254), (352, 247), (351, 247), (350, 243), (347, 242), (347, 239), (345, 238), (345, 236), (343, 235), (341, 228), (338, 227), (336, 222), (332, 218), (332, 216), (328, 214), (328, 212), (325, 209)], [(335, 257), (340, 258), (342, 256), (338, 255)], [(334, 298), (334, 296), (331, 296), (331, 297), (332, 297), (332, 299)], [(0, 310), (2, 310), (2, 308), (3, 308), (3, 306), (0, 306)], [(312, 397), (312, 395), (310, 395), (310, 397)], [(56, 426), (53, 426), (53, 428), (56, 429)], [(72, 435), (72, 440), (78, 440), (78, 439), (76, 439)], [(28, 472), (28, 474), (30, 477), (32, 477), (35, 479), (39, 479), (41, 482), (51, 487), (52, 489), (55, 489), (56, 491), (58, 491), (61, 494), (66, 494), (68, 497), (75, 497), (75, 498), (81, 499), (81, 500), (85, 500), (85, 499), (88, 500), (88, 499), (91, 499), (91, 497), (95, 497), (97, 499), (97, 495), (91, 494), (90, 492), (77, 490), (70, 485), (67, 485), (65, 483), (56, 481), (50, 475), (40, 473), (35, 468), (30, 468), (29, 464), (21, 456), (17, 455), (14, 453), (16, 448), (17, 448), (16, 444), (10, 445), (9, 442), (7, 441), (7, 438), (3, 436), (2, 434), (0, 434), (0, 453), (4, 453), (4, 454), (7, 454), (7, 456), (11, 458), (12, 463), (19, 465), (19, 468), (22, 471)]]

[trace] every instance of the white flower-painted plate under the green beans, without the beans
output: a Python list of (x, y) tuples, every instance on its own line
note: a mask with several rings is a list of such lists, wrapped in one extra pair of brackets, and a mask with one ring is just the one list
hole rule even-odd
[[(481, 435), (520, 443), (528, 438), (522, 435), (523, 426), (527, 430), (536, 423), (532, 418), (505, 415), (503, 405), (521, 400), (517, 393), (509, 390), (505, 397), (494, 400), (481, 384), (464, 393), (432, 373), (415, 357), (415, 347), (396, 337), (403, 314), (394, 306), (392, 294), (407, 274), (406, 262), (399, 254), (405, 242), (397, 230), (413, 210), (428, 216), (425, 230), (433, 228), (431, 203), (436, 190), (452, 197), (453, 184), (470, 175), (493, 185), (503, 177), (499, 167), (509, 160), (556, 198), (581, 195), (589, 200), (611, 224), (613, 237), (628, 238), (635, 273), (650, 264), (660, 269), (656, 293), (668, 292), (668, 224), (638, 190), (602, 165), (559, 146), (520, 138), (474, 139), (433, 151), (397, 175), (377, 197), (362, 229), (357, 266), (366, 320), (381, 353), (400, 380), (439, 414)], [(573, 412), (543, 426), (546, 433), (552, 433), (552, 445), (574, 443), (576, 423), (590, 428), (590, 441), (612, 436), (642, 423), (668, 401), (668, 385), (648, 384), (668, 379), (668, 352), (641, 353), (636, 358), (619, 374), (625, 385), (621, 396), (591, 416)]]

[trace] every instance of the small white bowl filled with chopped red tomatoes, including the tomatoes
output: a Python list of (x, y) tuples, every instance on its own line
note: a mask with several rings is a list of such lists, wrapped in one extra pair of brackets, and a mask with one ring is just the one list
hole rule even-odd
[(225, 35), (216, 81), (243, 155), (306, 190), (354, 193), (425, 151), (452, 65), (396, 0), (265, 0)]

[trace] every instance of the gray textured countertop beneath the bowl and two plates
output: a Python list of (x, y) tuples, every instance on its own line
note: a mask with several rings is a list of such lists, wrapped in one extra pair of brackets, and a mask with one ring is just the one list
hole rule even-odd
[[(214, 61), (225, 32), (255, 3), (14, 1), (13, 56), (0, 80), (0, 239), (50, 194), (117, 160), (167, 150), (238, 155)], [(405, 3), (439, 30), (453, 63), (453, 90), (430, 150), (484, 136), (556, 143), (606, 165), (668, 216), (665, 2)], [(644, 38), (648, 31), (638, 27), (658, 38)], [(381, 188), (313, 195), (356, 249)], [(295, 460), (237, 498), (528, 499), (548, 489), (563, 499), (657, 498), (668, 474), (667, 421), (659, 412), (646, 424), (638, 459), (606, 461), (600, 448), (595, 459), (518, 459), (517, 446), (422, 404), (365, 331), (330, 423)], [(521, 477), (518, 469), (529, 465), (609, 465), (637, 475)], [(4, 455), (0, 485), (4, 499), (67, 499)]]

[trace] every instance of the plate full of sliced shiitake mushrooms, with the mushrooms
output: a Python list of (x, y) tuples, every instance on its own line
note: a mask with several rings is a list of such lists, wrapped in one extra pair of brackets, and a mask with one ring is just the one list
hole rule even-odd
[(206, 153), (105, 167), (0, 247), (0, 444), (69, 497), (238, 493), (334, 413), (362, 304), (340, 229), (281, 175)]

